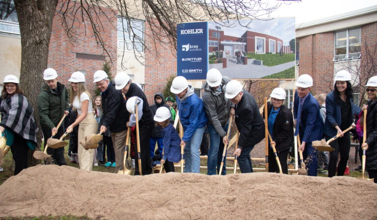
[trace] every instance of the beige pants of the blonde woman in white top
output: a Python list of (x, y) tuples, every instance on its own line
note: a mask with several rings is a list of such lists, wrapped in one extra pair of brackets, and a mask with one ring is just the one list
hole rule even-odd
[(86, 118), (82, 120), (79, 126), (78, 132), (78, 142), (79, 146), (77, 149), (77, 153), (79, 156), (79, 164), (80, 169), (85, 171), (91, 171), (93, 168), (93, 158), (94, 158), (94, 151), (97, 149), (88, 149), (85, 150), (84, 147), (80, 144), (83, 137), (89, 134), (95, 134), (98, 130), (98, 123), (97, 120), (94, 118), (92, 113), (88, 113)]

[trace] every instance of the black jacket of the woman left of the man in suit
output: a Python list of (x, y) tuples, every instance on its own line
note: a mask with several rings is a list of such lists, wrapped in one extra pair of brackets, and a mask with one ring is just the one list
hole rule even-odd
[[(267, 103), (268, 117), (272, 110), (272, 104)], [(265, 114), (263, 114), (264, 116)], [(293, 116), (292, 112), (285, 106), (280, 106), (272, 128), (272, 140), (276, 143), (276, 151), (280, 152), (289, 149), (293, 144)]]

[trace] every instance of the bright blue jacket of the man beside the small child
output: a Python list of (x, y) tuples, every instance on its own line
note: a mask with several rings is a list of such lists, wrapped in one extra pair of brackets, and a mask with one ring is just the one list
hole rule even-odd
[[(193, 88), (190, 85), (188, 87), (190, 87), (190, 90), (193, 92)], [(196, 128), (204, 127), (207, 124), (207, 116), (204, 110), (203, 100), (195, 93), (192, 93), (192, 95), (182, 101), (178, 97), (176, 98), (179, 119), (181, 120), (185, 131), (182, 140), (189, 141), (196, 131)]]

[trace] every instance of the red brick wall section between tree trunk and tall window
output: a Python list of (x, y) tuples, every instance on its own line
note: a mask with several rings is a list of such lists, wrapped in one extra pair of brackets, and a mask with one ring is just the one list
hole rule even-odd
[[(71, 4), (74, 4), (74, 2), (71, 1)], [(108, 9), (104, 8), (103, 10), (108, 12), (108, 17), (113, 15)], [(80, 10), (78, 14), (81, 14)], [(82, 22), (80, 22), (81, 20), (77, 19), (75, 21), (72, 31), (77, 34), (75, 35), (76, 41), (70, 42), (62, 27), (61, 18), (61, 15), (58, 13), (55, 14), (53, 21), (53, 32), (50, 40), (48, 67), (56, 70), (58, 74), (58, 81), (65, 84), (67, 89), (70, 88), (68, 79), (70, 78), (71, 74), (76, 71), (85, 71), (85, 86), (93, 95), (93, 91), (96, 88), (95, 83), (93, 83), (93, 74), (97, 70), (102, 69), (105, 61), (78, 59), (76, 58), (76, 53), (104, 55), (106, 56), (106, 60), (109, 61), (110, 59), (104, 49), (97, 45), (93, 36), (91, 25), (87, 19), (84, 20), (87, 28), (86, 34), (84, 25)], [(108, 50), (113, 62), (110, 63), (111, 73), (112, 76), (115, 76), (117, 61), (117, 31), (113, 28), (113, 26), (117, 26), (117, 18), (113, 17), (113, 19), (111, 19), (112, 24), (108, 21), (108, 19), (106, 19), (105, 16), (102, 16), (102, 18), (102, 24), (106, 29), (104, 33), (101, 33), (101, 36), (108, 45)]]

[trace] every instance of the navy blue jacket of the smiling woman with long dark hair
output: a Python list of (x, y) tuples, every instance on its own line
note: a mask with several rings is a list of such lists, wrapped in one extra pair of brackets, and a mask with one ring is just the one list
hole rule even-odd
[[(350, 100), (350, 102), (351, 117), (348, 120), (347, 127), (351, 126), (353, 122), (353, 102), (352, 100)], [(335, 136), (338, 133), (335, 126), (338, 125), (340, 127), (341, 122), (342, 115), (340, 112), (340, 106), (336, 102), (334, 92), (331, 92), (326, 96), (326, 119), (324, 120), (323, 133), (329, 137)]]

